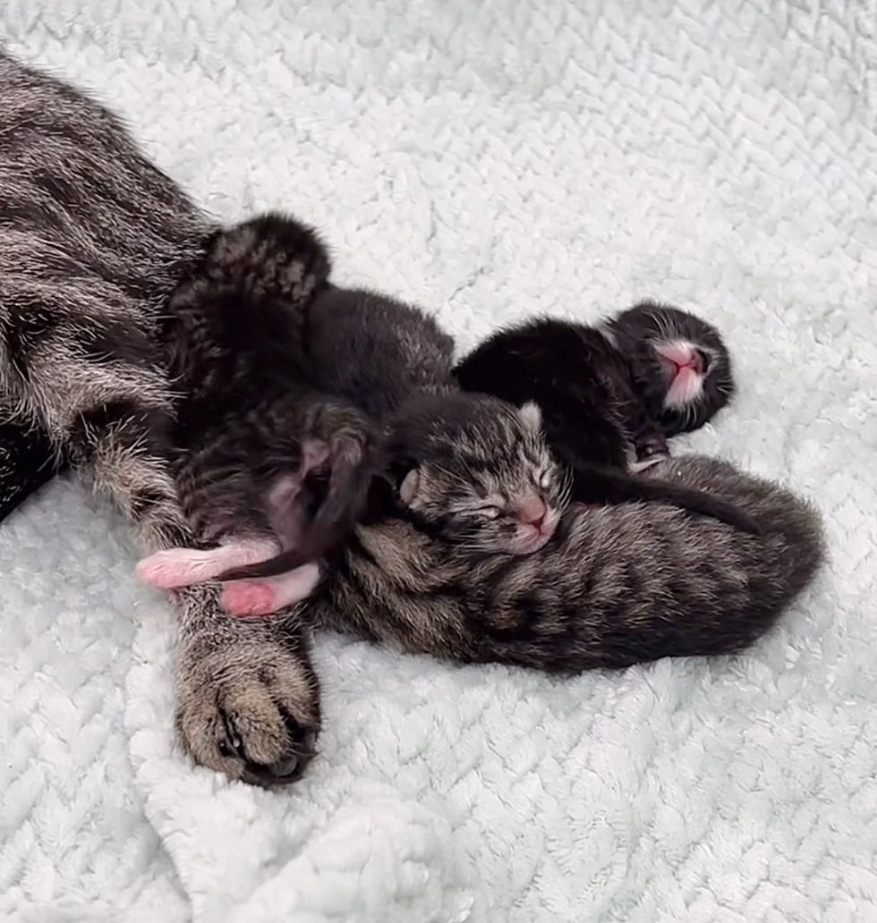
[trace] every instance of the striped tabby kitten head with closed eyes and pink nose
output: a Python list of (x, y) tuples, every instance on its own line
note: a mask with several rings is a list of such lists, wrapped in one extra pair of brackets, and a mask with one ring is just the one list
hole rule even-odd
[(456, 392), (417, 398), (391, 427), (390, 459), (402, 505), (476, 551), (536, 551), (567, 502), (533, 403), (519, 409)]

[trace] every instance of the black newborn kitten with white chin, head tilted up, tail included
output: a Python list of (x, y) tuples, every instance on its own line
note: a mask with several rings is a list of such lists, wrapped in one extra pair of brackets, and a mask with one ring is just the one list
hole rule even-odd
[[(703, 357), (679, 332), (695, 328)], [(682, 367), (689, 349), (701, 371)], [(751, 517), (724, 500), (631, 474), (668, 454), (665, 417), (659, 422), (653, 413), (667, 414), (668, 432), (704, 422), (733, 390), (729, 369), (715, 330), (675, 308), (648, 304), (606, 330), (552, 318), (500, 330), (454, 373), (465, 390), (539, 405), (549, 446), (573, 471), (573, 500), (663, 501), (755, 532)]]

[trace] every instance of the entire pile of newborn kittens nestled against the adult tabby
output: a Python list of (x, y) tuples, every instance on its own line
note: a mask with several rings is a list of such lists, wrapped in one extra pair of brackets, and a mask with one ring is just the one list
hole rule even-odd
[[(422, 310), (332, 285), (297, 222), (226, 234), (172, 300), (177, 325), (198, 318), (198, 348), (174, 340), (180, 471), (205, 465), (180, 489), (220, 544), (158, 552), (144, 580), (218, 578), (236, 616), (297, 603), (281, 624), (577, 672), (737, 651), (818, 567), (820, 523), (798, 498), (669, 458), (667, 438), (734, 390), (698, 318), (648, 303), (598, 329), (539, 319), (454, 367)], [(234, 260), (219, 270), (217, 252)], [(333, 503), (338, 541), (309, 544)]]

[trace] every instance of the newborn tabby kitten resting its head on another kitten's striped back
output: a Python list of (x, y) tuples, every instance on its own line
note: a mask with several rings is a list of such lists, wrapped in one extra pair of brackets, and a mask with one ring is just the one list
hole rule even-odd
[[(499, 553), (529, 554), (551, 537), (566, 496), (537, 408), (515, 411), (456, 390), (451, 338), (423, 311), (386, 295), (330, 288), (310, 308), (306, 353), (320, 389), (383, 422), (383, 480), (411, 515), (429, 518), (445, 537)], [(381, 485), (373, 485), (373, 505), (376, 497), (385, 497)], [(275, 527), (284, 531), (282, 517)], [(274, 576), (304, 560), (294, 548), (224, 571), (220, 580)], [(226, 587), (223, 599), (239, 611), (234, 589)], [(267, 604), (260, 597), (258, 605)]]

